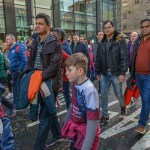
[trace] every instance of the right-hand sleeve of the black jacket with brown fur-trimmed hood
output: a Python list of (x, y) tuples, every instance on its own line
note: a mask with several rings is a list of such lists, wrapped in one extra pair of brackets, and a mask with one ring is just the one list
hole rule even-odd
[(125, 75), (128, 71), (129, 65), (129, 50), (125, 39), (122, 39), (120, 42), (121, 49), (121, 75)]

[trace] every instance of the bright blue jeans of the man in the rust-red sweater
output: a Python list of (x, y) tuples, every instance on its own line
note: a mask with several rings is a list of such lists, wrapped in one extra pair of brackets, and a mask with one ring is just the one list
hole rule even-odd
[(136, 83), (140, 91), (142, 100), (142, 109), (139, 125), (146, 126), (150, 114), (150, 74), (136, 74)]

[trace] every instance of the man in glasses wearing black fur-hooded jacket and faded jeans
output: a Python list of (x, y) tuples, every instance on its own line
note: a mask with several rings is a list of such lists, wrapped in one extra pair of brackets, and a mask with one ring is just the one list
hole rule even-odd
[(111, 21), (104, 22), (104, 38), (99, 44), (96, 56), (97, 79), (101, 81), (102, 118), (100, 124), (109, 121), (108, 90), (112, 83), (114, 93), (120, 102), (121, 115), (126, 114), (122, 83), (128, 70), (129, 52), (123, 36), (115, 31)]

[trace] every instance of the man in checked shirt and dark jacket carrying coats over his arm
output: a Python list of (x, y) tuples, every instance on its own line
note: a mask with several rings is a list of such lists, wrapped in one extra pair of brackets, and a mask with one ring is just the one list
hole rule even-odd
[[(54, 96), (60, 88), (60, 71), (62, 63), (62, 48), (60, 42), (50, 34), (50, 17), (40, 13), (36, 16), (36, 33), (39, 35), (31, 45), (30, 57), (27, 68), (41, 69), (43, 81), (52, 79)], [(41, 109), (39, 114), (39, 131), (34, 145), (34, 150), (43, 150), (46, 139), (51, 129), (53, 138), (48, 142), (53, 145), (61, 141), (61, 129), (57, 114), (48, 112), (46, 103), (41, 94), (38, 94)]]

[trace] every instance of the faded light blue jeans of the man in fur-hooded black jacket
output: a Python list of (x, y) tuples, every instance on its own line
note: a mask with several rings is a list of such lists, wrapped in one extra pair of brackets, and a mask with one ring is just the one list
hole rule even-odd
[(124, 107), (124, 97), (122, 94), (122, 83), (119, 81), (119, 76), (113, 76), (110, 72), (101, 75), (101, 107), (102, 116), (108, 117), (108, 91), (112, 83), (115, 96), (120, 102), (120, 106)]

